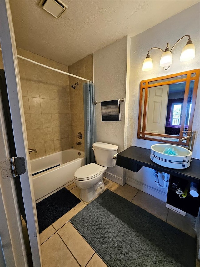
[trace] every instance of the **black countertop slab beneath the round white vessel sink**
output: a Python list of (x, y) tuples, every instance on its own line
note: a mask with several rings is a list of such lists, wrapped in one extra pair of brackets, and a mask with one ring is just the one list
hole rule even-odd
[(138, 146), (131, 146), (117, 155), (117, 165), (128, 170), (138, 172), (145, 166), (156, 169), (160, 172), (166, 172), (180, 178), (189, 178), (191, 181), (200, 180), (200, 160), (192, 158), (190, 167), (186, 169), (171, 169), (160, 166), (150, 159), (150, 149)]

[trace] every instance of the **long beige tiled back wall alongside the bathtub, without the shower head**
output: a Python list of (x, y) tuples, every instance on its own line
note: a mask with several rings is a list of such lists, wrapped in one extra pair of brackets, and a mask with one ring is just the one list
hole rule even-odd
[[(17, 54), (68, 72), (68, 66), (17, 48)], [(68, 75), (18, 59), (28, 145), (42, 157), (72, 146)], [(2, 55), (0, 68), (3, 69)]]

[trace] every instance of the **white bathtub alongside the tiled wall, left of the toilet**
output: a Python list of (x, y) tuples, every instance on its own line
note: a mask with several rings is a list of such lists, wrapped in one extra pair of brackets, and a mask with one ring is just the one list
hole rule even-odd
[(31, 160), (35, 200), (72, 183), (74, 172), (83, 165), (84, 152), (73, 148)]

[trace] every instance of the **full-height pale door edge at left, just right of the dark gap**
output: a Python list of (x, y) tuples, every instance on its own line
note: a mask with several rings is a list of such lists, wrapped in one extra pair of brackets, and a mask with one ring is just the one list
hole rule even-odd
[[(9, 1), (7, 0), (0, 1), (0, 41), (2, 47), (2, 57), (3, 57), (4, 71), (6, 76), (6, 84), (8, 90), (8, 98), (9, 98), (16, 153), (17, 157), (21, 156), (25, 158), (25, 165), (27, 169), (26, 173), (20, 175), (20, 182), (22, 187), (24, 208), (27, 218), (27, 228), (31, 246), (32, 260), (34, 266), (40, 267), (42, 265), (42, 260), (41, 260), (39, 229), (37, 222), (37, 212), (36, 212), (33, 184), (32, 184), (30, 158), (28, 155), (28, 141), (27, 141), (25, 117), (24, 117), (24, 110), (22, 103), (22, 91), (20, 84), (18, 61), (17, 61), (17, 50), (15, 44), (14, 28), (12, 24), (11, 10)], [(11, 178), (11, 180), (12, 179), (13, 178)], [(11, 188), (9, 188), (9, 190), (11, 190)], [(2, 191), (2, 193), (3, 192), (4, 191)], [(12, 194), (14, 196), (13, 191)], [(7, 206), (8, 213), (13, 212), (13, 210), (11, 211), (9, 208), (8, 199), (4, 199), (4, 205)], [(20, 216), (18, 217), (20, 219)], [(10, 219), (11, 221), (13, 220), (11, 217)], [(18, 232), (20, 233), (19, 228)], [(13, 244), (18, 245), (19, 240), (16, 240), (15, 238), (11, 237), (11, 241)], [(24, 266), (24, 265), (17, 265), (17, 266)]]

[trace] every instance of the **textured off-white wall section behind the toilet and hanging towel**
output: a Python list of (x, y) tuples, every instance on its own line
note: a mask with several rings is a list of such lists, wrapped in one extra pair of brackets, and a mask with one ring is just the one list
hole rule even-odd
[[(93, 54), (95, 101), (126, 98), (128, 46), (130, 49), (130, 38), (126, 36)], [(126, 142), (126, 104), (128, 102), (121, 102), (121, 121), (101, 121), (101, 105), (95, 106), (97, 141), (118, 145), (118, 152), (124, 150), (124, 141)], [(123, 168), (110, 167), (107, 173), (111, 175), (107, 177), (123, 184)]]

